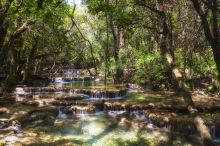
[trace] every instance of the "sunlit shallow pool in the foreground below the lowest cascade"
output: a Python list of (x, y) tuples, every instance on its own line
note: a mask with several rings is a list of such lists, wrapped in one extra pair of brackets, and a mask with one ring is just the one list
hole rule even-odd
[(99, 112), (56, 117), (53, 124), (27, 123), (22, 133), (4, 138), (8, 145), (196, 146), (193, 137), (159, 129), (137, 113)]

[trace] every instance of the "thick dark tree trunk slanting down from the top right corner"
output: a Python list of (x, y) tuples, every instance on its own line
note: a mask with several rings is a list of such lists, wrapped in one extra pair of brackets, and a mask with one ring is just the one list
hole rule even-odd
[[(218, 0), (191, 0), (194, 9), (201, 19), (201, 24), (204, 30), (206, 40), (212, 47), (214, 61), (218, 71), (218, 80), (220, 81), (220, 30), (219, 30), (219, 2)], [(211, 15), (206, 12), (210, 10)], [(209, 21), (210, 20), (210, 21)]]

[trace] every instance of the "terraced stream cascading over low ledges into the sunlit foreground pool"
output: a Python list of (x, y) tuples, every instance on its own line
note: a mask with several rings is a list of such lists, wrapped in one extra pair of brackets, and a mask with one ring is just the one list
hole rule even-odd
[(124, 101), (127, 90), (111, 82), (106, 88), (98, 78), (81, 76), (79, 71), (66, 70), (48, 87), (16, 88), (16, 102), (1, 116), (14, 116), (19, 122), (9, 122), (7, 128), (13, 132), (2, 128), (0, 140), (9, 146), (200, 145), (196, 134), (158, 126), (141, 109), (107, 106)]

